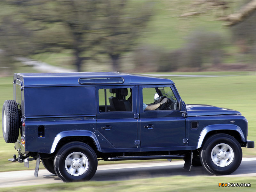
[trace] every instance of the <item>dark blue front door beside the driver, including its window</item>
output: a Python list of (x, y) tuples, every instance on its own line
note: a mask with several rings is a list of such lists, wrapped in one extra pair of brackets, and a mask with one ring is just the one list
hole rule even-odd
[[(142, 148), (185, 146), (183, 139), (186, 138), (186, 121), (178, 110), (179, 97), (174, 87), (172, 85), (142, 85), (139, 86), (139, 95), (141, 150), (143, 151)], [(168, 102), (165, 106), (161, 106), (164, 107), (163, 109), (159, 107), (155, 110), (147, 110), (146, 106), (156, 105), (158, 107), (160, 104), (157, 100), (164, 96), (167, 97)]]

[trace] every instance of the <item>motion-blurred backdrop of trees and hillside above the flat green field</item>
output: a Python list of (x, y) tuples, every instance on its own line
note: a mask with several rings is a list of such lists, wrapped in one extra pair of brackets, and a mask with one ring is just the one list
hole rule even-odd
[(255, 8), (247, 0), (0, 1), (0, 76), (43, 63), (68, 72), (255, 71)]

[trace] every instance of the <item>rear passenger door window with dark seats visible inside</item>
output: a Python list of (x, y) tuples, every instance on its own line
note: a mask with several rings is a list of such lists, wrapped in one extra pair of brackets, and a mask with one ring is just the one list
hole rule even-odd
[(99, 89), (99, 111), (132, 111), (132, 89)]

